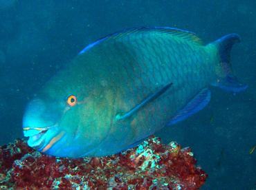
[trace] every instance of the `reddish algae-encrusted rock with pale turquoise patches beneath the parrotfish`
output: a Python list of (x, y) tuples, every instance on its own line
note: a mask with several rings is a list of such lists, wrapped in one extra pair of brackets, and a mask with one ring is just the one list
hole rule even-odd
[(151, 138), (102, 158), (58, 158), (40, 154), (25, 140), (0, 147), (0, 189), (200, 189), (207, 174), (195, 166), (190, 148)]

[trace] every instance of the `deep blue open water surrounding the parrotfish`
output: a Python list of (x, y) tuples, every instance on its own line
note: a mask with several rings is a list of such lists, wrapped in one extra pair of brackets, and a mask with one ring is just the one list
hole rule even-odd
[(169, 26), (205, 43), (232, 32), (232, 66), (248, 83), (236, 95), (210, 87), (212, 99), (188, 120), (156, 135), (191, 147), (208, 174), (202, 189), (255, 189), (256, 2), (172, 0), (0, 0), (0, 145), (22, 138), (23, 110), (62, 65), (107, 34), (141, 26)]

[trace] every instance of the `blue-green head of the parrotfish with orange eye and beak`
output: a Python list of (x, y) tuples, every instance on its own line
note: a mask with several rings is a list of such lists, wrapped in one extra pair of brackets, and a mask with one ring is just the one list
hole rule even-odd
[(111, 89), (96, 81), (74, 83), (53, 78), (28, 103), (23, 129), (30, 147), (51, 156), (94, 156), (90, 152), (109, 135), (114, 117)]

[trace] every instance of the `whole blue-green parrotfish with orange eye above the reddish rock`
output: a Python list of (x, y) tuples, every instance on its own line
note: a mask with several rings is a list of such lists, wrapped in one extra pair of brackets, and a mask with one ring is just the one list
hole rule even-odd
[(133, 28), (86, 46), (57, 72), (24, 112), (28, 145), (51, 156), (118, 154), (210, 101), (210, 85), (236, 93), (228, 34), (203, 45), (175, 28)]

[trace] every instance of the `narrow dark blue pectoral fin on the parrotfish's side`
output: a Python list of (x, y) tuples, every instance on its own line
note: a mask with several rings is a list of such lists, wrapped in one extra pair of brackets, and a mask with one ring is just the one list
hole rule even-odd
[(154, 101), (156, 98), (158, 98), (159, 96), (161, 96), (163, 93), (166, 92), (167, 89), (169, 89), (169, 87), (172, 85), (172, 83), (166, 85), (165, 87), (163, 87), (162, 89), (158, 90), (158, 92), (154, 93), (152, 96), (150, 96), (149, 98), (147, 98), (145, 101), (143, 101), (143, 103), (140, 103), (140, 105), (134, 107), (134, 109), (131, 109), (130, 112), (128, 112), (127, 114), (125, 113), (118, 113), (116, 114), (116, 120), (122, 120), (125, 118), (128, 118), (129, 116), (131, 116), (132, 114), (138, 112), (139, 109), (141, 109), (143, 106), (145, 106), (147, 103), (150, 103), (152, 101)]

